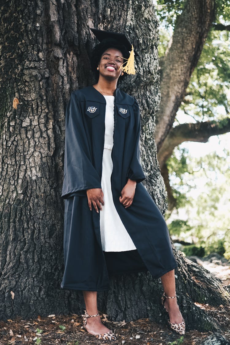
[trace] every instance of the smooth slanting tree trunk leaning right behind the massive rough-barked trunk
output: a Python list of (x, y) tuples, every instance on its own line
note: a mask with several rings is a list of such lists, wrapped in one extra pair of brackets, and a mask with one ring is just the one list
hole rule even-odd
[(157, 149), (172, 128), (214, 18), (214, 0), (187, 0), (161, 65), (161, 102), (156, 115)]

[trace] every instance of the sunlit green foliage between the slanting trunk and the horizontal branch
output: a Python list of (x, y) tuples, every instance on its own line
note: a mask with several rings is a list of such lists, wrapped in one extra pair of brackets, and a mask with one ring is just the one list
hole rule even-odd
[(217, 30), (209, 32), (181, 103), (180, 111), (196, 122), (222, 120), (229, 113), (230, 45), (225, 36)]

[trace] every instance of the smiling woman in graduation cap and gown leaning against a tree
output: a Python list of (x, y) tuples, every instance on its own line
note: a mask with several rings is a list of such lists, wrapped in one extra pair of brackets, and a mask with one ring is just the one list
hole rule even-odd
[(116, 340), (101, 322), (97, 291), (109, 289), (110, 273), (149, 270), (161, 277), (170, 327), (184, 334), (168, 228), (141, 183), (139, 105), (117, 88), (123, 71), (135, 73), (137, 52), (122, 34), (91, 30), (100, 41), (91, 61), (98, 82), (73, 91), (66, 110), (61, 287), (83, 291), (83, 327), (90, 334)]

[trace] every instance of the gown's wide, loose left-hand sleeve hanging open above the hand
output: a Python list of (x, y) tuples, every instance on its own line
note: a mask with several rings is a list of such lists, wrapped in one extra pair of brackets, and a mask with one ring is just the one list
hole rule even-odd
[(82, 112), (74, 92), (66, 108), (64, 180), (61, 196), (86, 196), (86, 190), (101, 188), (101, 179), (93, 167)]

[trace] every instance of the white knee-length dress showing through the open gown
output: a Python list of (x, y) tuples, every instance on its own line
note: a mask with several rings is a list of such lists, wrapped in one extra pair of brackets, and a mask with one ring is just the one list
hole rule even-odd
[(106, 116), (101, 177), (104, 205), (101, 204), (102, 210), (99, 211), (101, 244), (105, 252), (123, 252), (137, 248), (134, 246), (113, 203), (110, 178), (113, 169), (111, 152), (114, 130), (114, 96), (104, 96), (104, 98), (106, 99)]

